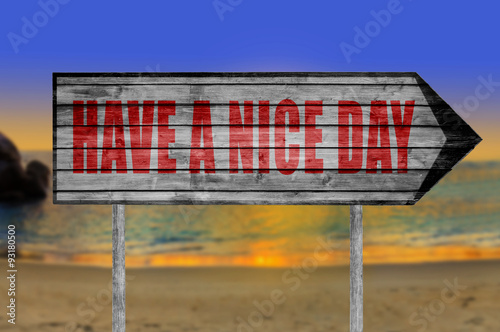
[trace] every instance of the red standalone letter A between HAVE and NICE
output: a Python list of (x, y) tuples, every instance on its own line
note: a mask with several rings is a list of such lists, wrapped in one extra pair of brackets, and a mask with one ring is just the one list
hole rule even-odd
[[(203, 131), (203, 148), (201, 135)], [(200, 173), (203, 160), (205, 173), (215, 173), (214, 139), (212, 135), (212, 117), (210, 101), (197, 100), (193, 108), (193, 129), (191, 132), (191, 156), (189, 172)]]

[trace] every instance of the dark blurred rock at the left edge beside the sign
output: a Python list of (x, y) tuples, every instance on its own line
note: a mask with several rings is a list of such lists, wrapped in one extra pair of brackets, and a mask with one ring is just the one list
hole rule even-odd
[(47, 197), (49, 168), (31, 161), (26, 170), (16, 146), (0, 133), (0, 202), (22, 203)]

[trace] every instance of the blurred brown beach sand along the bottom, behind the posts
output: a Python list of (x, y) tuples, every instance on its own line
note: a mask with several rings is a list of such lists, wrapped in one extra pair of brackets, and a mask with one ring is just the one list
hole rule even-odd
[[(348, 331), (348, 272), (128, 269), (127, 331)], [(500, 331), (499, 272), (498, 261), (366, 266), (365, 331)], [(16, 325), (3, 313), (0, 331), (111, 331), (110, 281), (106, 268), (18, 263)]]

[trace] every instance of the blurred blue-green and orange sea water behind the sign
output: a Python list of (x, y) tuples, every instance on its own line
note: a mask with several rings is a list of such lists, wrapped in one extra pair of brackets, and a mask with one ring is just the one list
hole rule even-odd
[[(367, 263), (500, 258), (500, 163), (464, 162), (415, 206), (365, 207), (363, 222)], [(26, 259), (111, 264), (110, 206), (56, 206), (51, 196), (2, 205), (1, 248), (9, 224)], [(313, 255), (320, 238), (335, 248), (322, 264), (348, 262), (348, 207), (126, 207), (128, 266), (287, 266)]]

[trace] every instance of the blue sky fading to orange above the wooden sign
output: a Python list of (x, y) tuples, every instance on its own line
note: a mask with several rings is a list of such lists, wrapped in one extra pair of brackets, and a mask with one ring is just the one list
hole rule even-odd
[(0, 14), (0, 131), (21, 150), (51, 149), (52, 72), (415, 71), (483, 137), (468, 160), (500, 159), (496, 2), (234, 3), (11, 3)]

